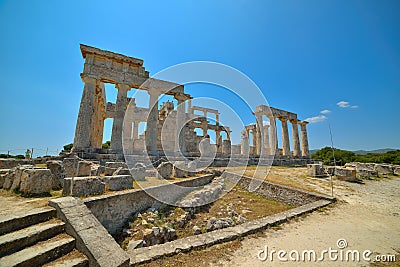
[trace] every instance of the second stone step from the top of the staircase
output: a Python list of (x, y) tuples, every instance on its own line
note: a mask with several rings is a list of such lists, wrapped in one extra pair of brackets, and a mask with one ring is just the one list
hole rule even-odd
[(9, 255), (39, 241), (49, 239), (64, 230), (60, 220), (53, 219), (0, 236), (0, 257)]

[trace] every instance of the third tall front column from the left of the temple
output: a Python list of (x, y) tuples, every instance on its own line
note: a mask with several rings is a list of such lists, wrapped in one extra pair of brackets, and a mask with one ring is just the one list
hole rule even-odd
[(150, 111), (146, 126), (146, 149), (147, 152), (156, 154), (158, 136), (158, 97), (160, 96), (160, 92), (154, 89), (149, 89), (147, 92), (150, 94)]

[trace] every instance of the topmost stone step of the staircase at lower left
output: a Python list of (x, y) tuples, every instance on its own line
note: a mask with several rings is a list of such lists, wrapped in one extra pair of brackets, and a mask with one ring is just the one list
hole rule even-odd
[(35, 208), (0, 215), (0, 235), (48, 221), (55, 216), (56, 210), (52, 208)]

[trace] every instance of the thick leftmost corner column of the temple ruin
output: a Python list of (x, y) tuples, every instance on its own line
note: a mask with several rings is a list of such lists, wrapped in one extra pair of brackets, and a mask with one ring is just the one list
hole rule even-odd
[(78, 120), (75, 129), (74, 150), (82, 148), (90, 148), (92, 146), (90, 140), (93, 135), (93, 111), (97, 103), (96, 84), (97, 80), (92, 77), (82, 76), (85, 83), (83, 88), (81, 105), (79, 107)]

